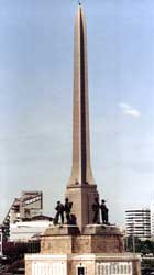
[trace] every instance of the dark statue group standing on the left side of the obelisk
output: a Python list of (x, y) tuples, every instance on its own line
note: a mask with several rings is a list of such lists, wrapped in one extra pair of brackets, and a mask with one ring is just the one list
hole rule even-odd
[(66, 218), (66, 223), (67, 224), (76, 224), (76, 217), (74, 215), (72, 215), (72, 207), (73, 207), (73, 202), (70, 202), (68, 200), (68, 198), (65, 199), (65, 204), (63, 205), (61, 201), (57, 201), (57, 206), (55, 208), (56, 216), (54, 218), (54, 223), (57, 224), (64, 223), (64, 213), (65, 213), (65, 218)]

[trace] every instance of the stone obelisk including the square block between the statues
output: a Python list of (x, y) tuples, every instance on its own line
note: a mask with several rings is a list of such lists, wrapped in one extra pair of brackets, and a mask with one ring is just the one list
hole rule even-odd
[(92, 223), (92, 204), (99, 197), (90, 165), (88, 62), (86, 19), (81, 4), (75, 18), (73, 167), (66, 197), (80, 230)]

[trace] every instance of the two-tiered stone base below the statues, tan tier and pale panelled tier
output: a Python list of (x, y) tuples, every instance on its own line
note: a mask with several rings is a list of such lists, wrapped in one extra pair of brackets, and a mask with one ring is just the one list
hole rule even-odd
[(25, 274), (141, 275), (140, 263), (140, 255), (124, 253), (118, 227), (88, 224), (80, 234), (78, 227), (64, 224), (45, 231), (40, 254), (25, 255)]

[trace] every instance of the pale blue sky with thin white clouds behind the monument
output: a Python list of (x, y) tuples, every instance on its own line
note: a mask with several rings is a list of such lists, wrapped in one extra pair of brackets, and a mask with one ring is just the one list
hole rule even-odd
[[(154, 2), (82, 1), (94, 175), (111, 222), (154, 199)], [(0, 219), (24, 189), (53, 215), (72, 166), (77, 1), (0, 1)]]

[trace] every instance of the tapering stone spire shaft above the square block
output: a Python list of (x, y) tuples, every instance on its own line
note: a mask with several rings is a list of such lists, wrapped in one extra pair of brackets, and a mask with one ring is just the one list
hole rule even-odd
[(95, 184), (90, 165), (86, 19), (78, 6), (75, 19), (73, 168), (68, 185)]

